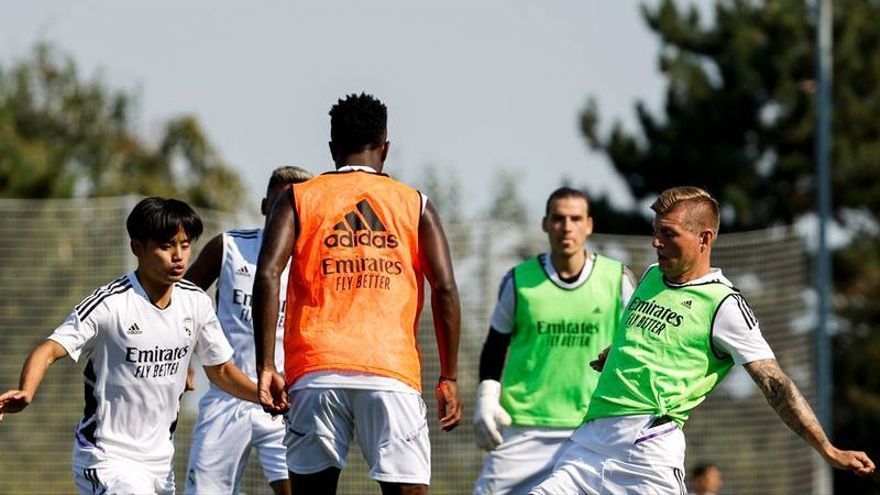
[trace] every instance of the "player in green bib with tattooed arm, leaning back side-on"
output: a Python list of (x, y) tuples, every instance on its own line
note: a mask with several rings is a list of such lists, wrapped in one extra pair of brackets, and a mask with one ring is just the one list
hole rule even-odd
[(677, 187), (651, 206), (656, 265), (624, 308), (585, 423), (553, 473), (530, 492), (682, 494), (690, 411), (741, 364), (779, 417), (838, 469), (874, 471), (864, 452), (834, 447), (809, 404), (782, 372), (739, 291), (711, 267), (718, 203)]

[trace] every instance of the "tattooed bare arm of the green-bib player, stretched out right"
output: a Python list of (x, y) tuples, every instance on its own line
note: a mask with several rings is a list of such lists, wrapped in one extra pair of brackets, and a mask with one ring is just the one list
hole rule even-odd
[(840, 450), (831, 444), (809, 403), (775, 359), (753, 361), (745, 368), (779, 418), (829, 464), (860, 476), (874, 472), (874, 463), (864, 452)]

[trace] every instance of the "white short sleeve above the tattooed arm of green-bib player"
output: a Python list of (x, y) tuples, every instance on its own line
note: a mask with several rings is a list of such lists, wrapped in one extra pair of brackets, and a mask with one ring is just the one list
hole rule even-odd
[(758, 319), (739, 294), (729, 296), (718, 308), (712, 324), (712, 345), (716, 354), (727, 354), (736, 364), (775, 359)]

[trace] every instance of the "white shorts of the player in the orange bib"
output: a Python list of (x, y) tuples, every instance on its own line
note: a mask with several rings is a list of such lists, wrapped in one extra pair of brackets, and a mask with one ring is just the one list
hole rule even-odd
[(287, 466), (297, 474), (342, 469), (357, 438), (376, 481), (427, 485), (431, 443), (417, 393), (304, 388), (290, 391)]

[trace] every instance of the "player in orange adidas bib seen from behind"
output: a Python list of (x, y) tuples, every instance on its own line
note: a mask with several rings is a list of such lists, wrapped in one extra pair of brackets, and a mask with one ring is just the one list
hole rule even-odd
[[(257, 263), (260, 402), (280, 413), (290, 396), (285, 445), (294, 493), (336, 493), (355, 431), (383, 494), (427, 493), (417, 346), (424, 279), (440, 354), (437, 416), (447, 431), (461, 421), (461, 316), (446, 236), (425, 195), (382, 174), (386, 121), (385, 105), (370, 95), (333, 106), (336, 170), (279, 198)], [(273, 360), (275, 324), (279, 277), (291, 257), (282, 378)]]

